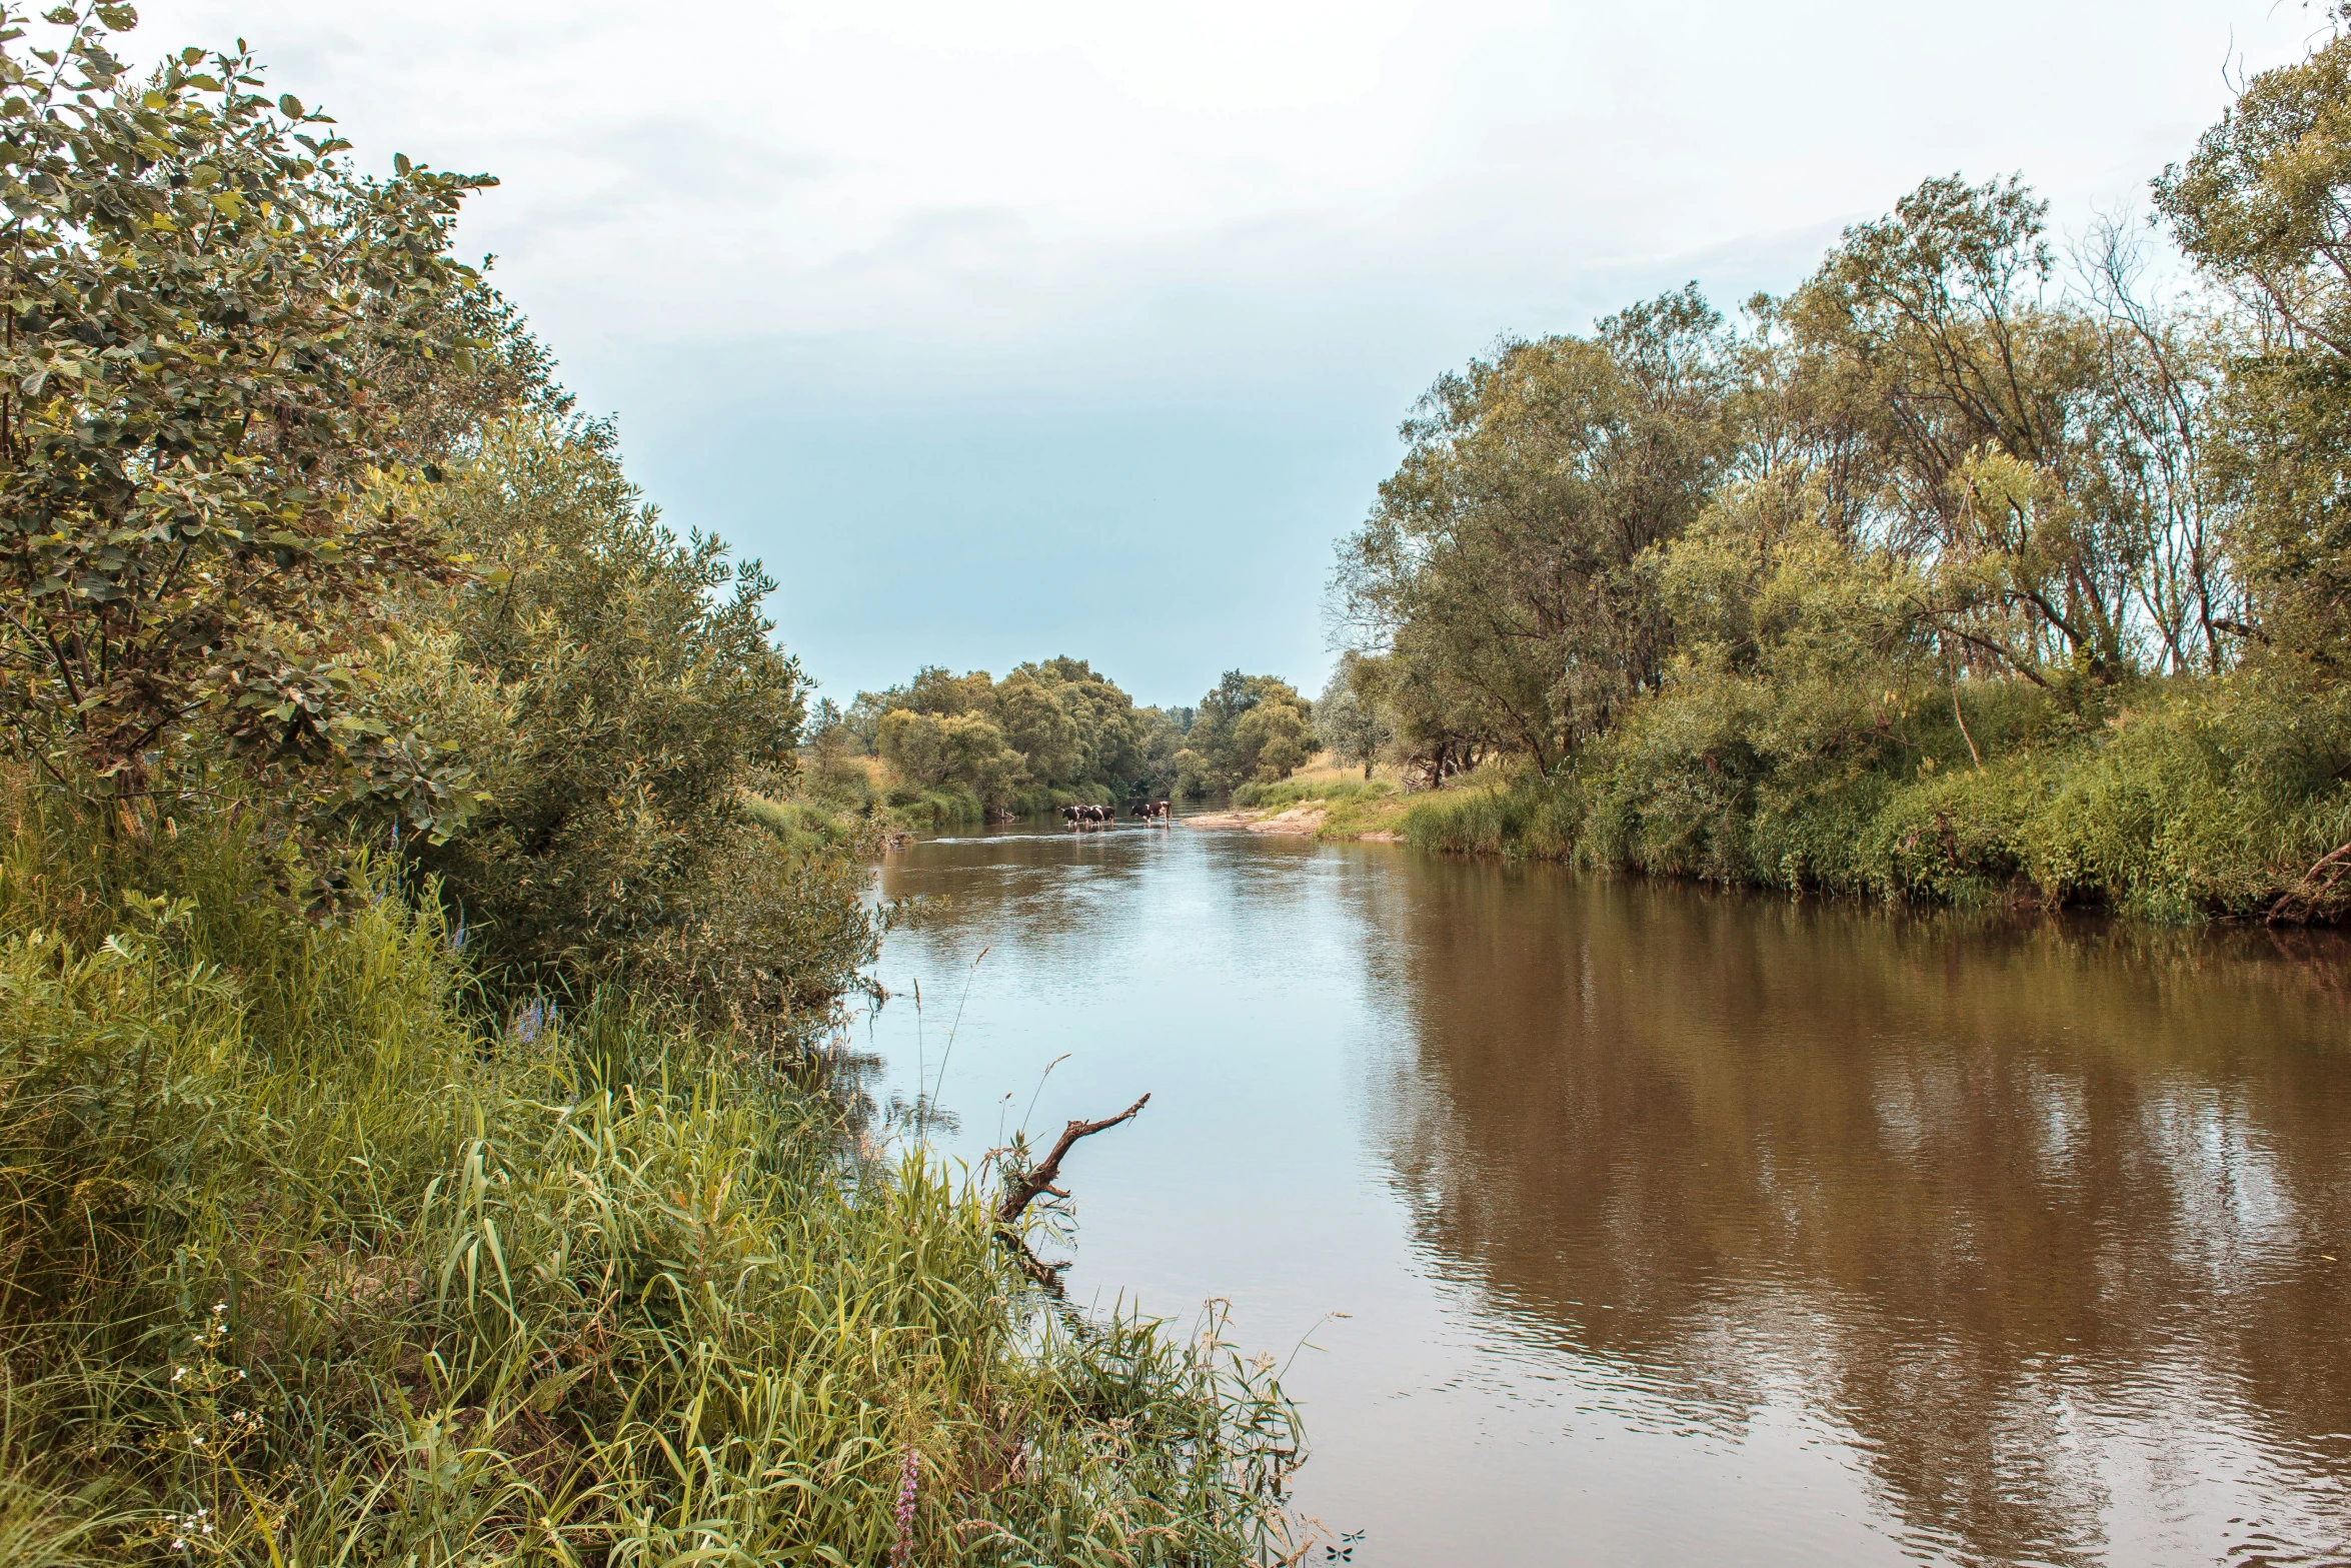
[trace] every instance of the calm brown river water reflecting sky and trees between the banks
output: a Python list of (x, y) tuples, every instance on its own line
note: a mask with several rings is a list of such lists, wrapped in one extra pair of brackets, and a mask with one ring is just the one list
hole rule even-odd
[(1070, 1295), (1293, 1356), (1352, 1563), (2351, 1563), (2335, 938), (1140, 825), (882, 893), (877, 1093), (1150, 1091)]

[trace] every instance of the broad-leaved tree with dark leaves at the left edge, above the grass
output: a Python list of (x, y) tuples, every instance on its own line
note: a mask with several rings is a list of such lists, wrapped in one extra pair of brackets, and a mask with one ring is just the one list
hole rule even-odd
[(447, 578), (430, 529), (369, 503), (402, 456), (390, 357), (475, 343), (449, 261), (487, 179), (402, 160), (357, 179), (331, 120), (252, 54), (134, 82), (122, 5), (61, 7), (59, 47), (0, 14), (0, 719), (75, 788), (150, 785), (179, 752), (324, 771), (444, 835), (461, 769), (364, 712), (350, 658), (386, 583)]

